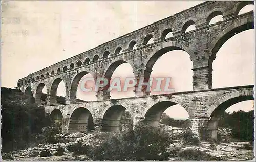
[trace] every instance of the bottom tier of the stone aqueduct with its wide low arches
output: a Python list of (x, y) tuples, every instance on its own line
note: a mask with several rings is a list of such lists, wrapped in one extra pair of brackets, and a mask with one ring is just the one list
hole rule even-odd
[[(131, 97), (102, 101), (88, 101), (61, 105), (46, 106), (49, 114), (63, 116), (63, 132), (77, 132), (87, 129), (89, 122), (95, 125), (96, 131), (119, 130), (120, 118), (128, 111), (133, 124), (140, 120), (159, 124), (163, 112), (170, 106), (179, 104), (189, 114), (193, 131), (207, 126), (217, 135), (217, 122), (221, 112), (241, 101), (253, 100), (254, 85), (227, 87), (208, 90), (176, 92), (172, 94)], [(88, 118), (92, 117), (92, 121)], [(71, 123), (71, 124), (70, 124)], [(74, 124), (75, 123), (75, 124)], [(85, 124), (86, 123), (86, 124)], [(81, 127), (83, 127), (81, 129)]]

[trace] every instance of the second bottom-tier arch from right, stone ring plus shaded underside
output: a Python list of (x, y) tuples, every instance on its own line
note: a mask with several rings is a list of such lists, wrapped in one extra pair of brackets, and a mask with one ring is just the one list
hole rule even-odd
[(160, 122), (160, 118), (163, 112), (170, 106), (179, 104), (182, 106), (188, 113), (189, 117), (191, 117), (193, 112), (189, 109), (188, 105), (182, 102), (181, 100), (172, 98), (172, 99), (162, 99), (159, 98), (158, 102), (152, 102), (149, 104), (142, 113), (142, 117), (144, 118), (144, 122), (150, 123), (153, 126), (157, 126)]

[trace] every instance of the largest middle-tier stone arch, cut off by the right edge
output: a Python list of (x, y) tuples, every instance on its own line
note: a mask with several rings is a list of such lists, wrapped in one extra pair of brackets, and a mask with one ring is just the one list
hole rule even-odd
[(253, 24), (253, 17), (250, 18), (244, 18), (240, 21), (233, 23), (232, 25), (228, 26), (226, 29), (224, 29), (222, 32), (220, 32), (214, 40), (212, 40), (209, 44), (208, 51), (210, 51), (211, 55), (208, 60), (208, 66), (211, 69), (212, 63), (216, 58), (216, 54), (219, 51), (219, 49), (222, 47), (222, 45), (230, 39), (232, 36), (254, 28)]

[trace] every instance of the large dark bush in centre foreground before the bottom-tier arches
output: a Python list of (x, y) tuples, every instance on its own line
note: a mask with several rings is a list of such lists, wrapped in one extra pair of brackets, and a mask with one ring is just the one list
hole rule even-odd
[(134, 130), (106, 138), (89, 156), (92, 160), (168, 160), (170, 143), (165, 130), (140, 123)]

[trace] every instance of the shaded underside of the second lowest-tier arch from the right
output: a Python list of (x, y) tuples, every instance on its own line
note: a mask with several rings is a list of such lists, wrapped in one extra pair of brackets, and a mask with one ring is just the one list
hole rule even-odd
[[(144, 120), (143, 122), (146, 124), (150, 124), (152, 126), (159, 126), (160, 124), (160, 119), (162, 117), (163, 112), (174, 105), (177, 105), (178, 103), (174, 101), (160, 101), (153, 106), (151, 106), (149, 109), (147, 109), (145, 115), (144, 115)], [(181, 107), (183, 107), (186, 111), (186, 107), (184, 107), (184, 104), (179, 104)], [(188, 113), (188, 111), (187, 111)], [(189, 115), (189, 113), (188, 113)]]

